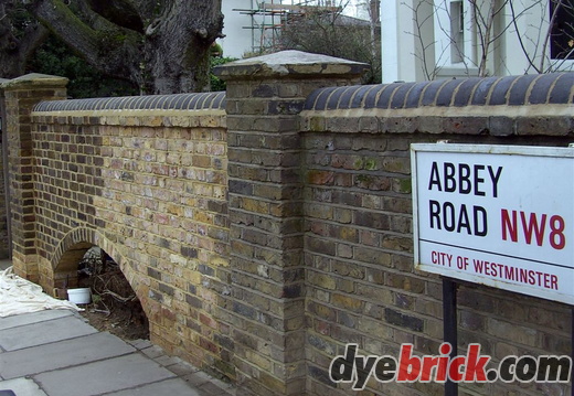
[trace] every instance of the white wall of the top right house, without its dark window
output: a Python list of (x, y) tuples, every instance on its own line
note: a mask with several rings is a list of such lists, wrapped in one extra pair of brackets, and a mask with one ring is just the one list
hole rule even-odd
[[(424, 26), (421, 34), (426, 44), (431, 45), (425, 61), (433, 64), (427, 73), (422, 73), (421, 43), (416, 39), (417, 24), (424, 21), (424, 14), (414, 14), (416, 7), (413, 3), (433, 3), (426, 12), (432, 13), (433, 28)], [(382, 13), (382, 53), (383, 82), (393, 81), (423, 81), (432, 78), (451, 78), (478, 75), (478, 65), (482, 54), (482, 45), (472, 17), (471, 4), (464, 0), (464, 53), (463, 62), (453, 57), (450, 31), (450, 3), (453, 0), (383, 0)], [(487, 14), (488, 4), (496, 1), (500, 7), (502, 0), (485, 0), (481, 7)], [(549, 3), (540, 0), (513, 1), (514, 15), (519, 15), (515, 25), (512, 22), (512, 12), (507, 3), (495, 21), (495, 35), (503, 32), (496, 42), (491, 43), (487, 55), (487, 75), (520, 75), (538, 73), (529, 63), (525, 52), (533, 60), (536, 67), (545, 56), (543, 72), (572, 71), (574, 61), (550, 60), (550, 45), (544, 43), (549, 29)], [(532, 7), (534, 6), (534, 7)], [(522, 44), (519, 40), (522, 39)], [(425, 44), (425, 45), (426, 45)], [(544, 44), (546, 50), (543, 51)], [(417, 52), (418, 51), (418, 52)], [(418, 55), (415, 55), (418, 54)], [(433, 58), (434, 57), (434, 58)], [(433, 69), (436, 73), (432, 73)]]

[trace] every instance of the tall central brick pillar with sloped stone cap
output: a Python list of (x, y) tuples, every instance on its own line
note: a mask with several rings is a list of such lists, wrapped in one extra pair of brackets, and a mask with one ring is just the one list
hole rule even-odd
[(365, 67), (285, 51), (216, 71), (227, 83), (232, 291), (224, 309), (243, 394), (305, 394), (299, 113), (311, 92), (358, 84)]

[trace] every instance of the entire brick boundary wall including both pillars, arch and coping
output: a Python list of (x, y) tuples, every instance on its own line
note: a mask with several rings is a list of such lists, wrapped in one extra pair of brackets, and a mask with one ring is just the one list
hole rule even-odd
[[(42, 101), (32, 114), (65, 82), (2, 85), (17, 271), (51, 291), (100, 246), (152, 341), (241, 395), (355, 394), (328, 375), (349, 342), (362, 354), (396, 356), (401, 343), (437, 354), (442, 283), (413, 265), (410, 145), (566, 146), (574, 75), (353, 85), (363, 68), (284, 52), (223, 66), (226, 96)], [(570, 307), (470, 285), (457, 296), (460, 351), (571, 353)], [(358, 394), (443, 392), (370, 382)]]

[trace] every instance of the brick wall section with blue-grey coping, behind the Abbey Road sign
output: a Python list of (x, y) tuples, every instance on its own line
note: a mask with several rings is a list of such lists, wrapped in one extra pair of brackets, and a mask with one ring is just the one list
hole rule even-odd
[[(317, 90), (302, 111), (308, 390), (348, 395), (328, 367), (344, 343), (436, 355), (439, 277), (413, 264), (410, 145), (449, 140), (565, 147), (574, 75), (471, 78)], [(479, 286), (458, 288), (458, 347), (495, 361), (571, 354), (570, 307)], [(565, 395), (564, 384), (460, 385), (460, 395)], [(336, 390), (338, 389), (338, 390)], [(378, 384), (361, 395), (443, 395), (440, 384)]]

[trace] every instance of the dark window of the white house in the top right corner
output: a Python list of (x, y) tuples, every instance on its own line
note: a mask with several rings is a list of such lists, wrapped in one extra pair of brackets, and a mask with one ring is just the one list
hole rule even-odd
[(553, 60), (574, 60), (574, 0), (550, 0), (550, 55)]

